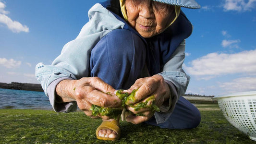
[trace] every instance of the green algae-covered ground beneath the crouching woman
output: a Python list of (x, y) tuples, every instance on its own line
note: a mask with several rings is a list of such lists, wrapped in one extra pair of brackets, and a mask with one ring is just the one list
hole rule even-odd
[(114, 142), (98, 140), (95, 131), (101, 120), (81, 111), (0, 109), (0, 144), (256, 144), (224, 118), (218, 105), (196, 107), (202, 120), (195, 129), (169, 130), (121, 122), (121, 139)]

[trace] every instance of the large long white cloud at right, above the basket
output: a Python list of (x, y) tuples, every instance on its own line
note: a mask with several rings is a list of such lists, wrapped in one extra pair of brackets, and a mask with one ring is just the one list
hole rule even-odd
[(191, 67), (183, 65), (185, 71), (198, 79), (209, 80), (216, 76), (256, 72), (256, 49), (235, 54), (209, 53), (190, 62)]

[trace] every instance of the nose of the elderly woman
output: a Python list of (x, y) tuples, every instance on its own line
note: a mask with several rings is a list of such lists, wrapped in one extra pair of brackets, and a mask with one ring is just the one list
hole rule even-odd
[(139, 15), (148, 19), (154, 16), (152, 0), (144, 0), (141, 4), (141, 9)]

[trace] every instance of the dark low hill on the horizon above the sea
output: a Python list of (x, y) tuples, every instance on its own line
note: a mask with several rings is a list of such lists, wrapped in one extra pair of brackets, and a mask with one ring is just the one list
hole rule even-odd
[(41, 84), (28, 84), (17, 82), (12, 82), (11, 84), (0, 83), (0, 88), (43, 92)]

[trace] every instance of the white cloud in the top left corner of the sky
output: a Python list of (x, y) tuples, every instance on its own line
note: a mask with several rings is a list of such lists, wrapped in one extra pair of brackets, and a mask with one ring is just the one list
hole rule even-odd
[(0, 23), (7, 25), (7, 27), (14, 33), (29, 32), (29, 28), (26, 25), (13, 21), (6, 15), (9, 12), (4, 10), (5, 7), (5, 4), (0, 1)]

